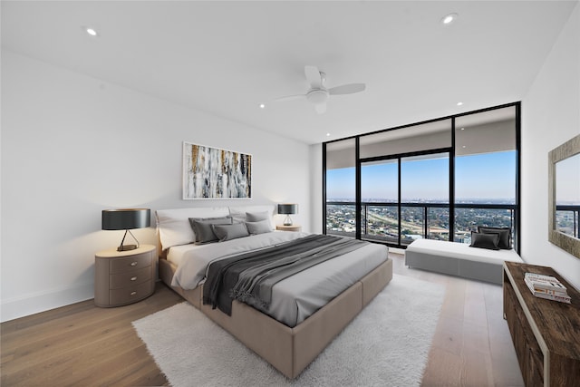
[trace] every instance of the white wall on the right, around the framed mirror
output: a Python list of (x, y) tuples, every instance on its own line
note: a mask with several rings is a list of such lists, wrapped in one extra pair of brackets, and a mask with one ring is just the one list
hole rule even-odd
[[(580, 258), (547, 240), (547, 153), (580, 134), (580, 5), (522, 101), (522, 257), (580, 288)], [(580, 177), (579, 177), (580, 179)]]

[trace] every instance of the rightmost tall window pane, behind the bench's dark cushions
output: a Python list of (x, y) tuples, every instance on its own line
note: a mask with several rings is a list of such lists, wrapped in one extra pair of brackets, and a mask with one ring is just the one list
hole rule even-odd
[(455, 234), (469, 243), (478, 226), (517, 233), (516, 107), (455, 120)]

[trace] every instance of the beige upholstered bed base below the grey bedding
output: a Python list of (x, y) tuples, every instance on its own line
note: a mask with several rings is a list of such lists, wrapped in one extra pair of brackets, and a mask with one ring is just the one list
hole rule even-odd
[(302, 324), (290, 328), (237, 301), (233, 302), (231, 316), (212, 310), (201, 301), (202, 286), (193, 290), (171, 286), (176, 268), (160, 256), (160, 278), (165, 284), (290, 379), (298, 376), (392, 278), (389, 258)]

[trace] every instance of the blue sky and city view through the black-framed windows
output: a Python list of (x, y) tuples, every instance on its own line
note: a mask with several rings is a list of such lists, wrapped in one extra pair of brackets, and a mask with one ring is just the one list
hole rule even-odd
[[(509, 227), (513, 233), (516, 151), (461, 155), (454, 161), (455, 203), (508, 207), (455, 208), (450, 216), (449, 152), (362, 162), (362, 239), (407, 246), (419, 238), (470, 243), (478, 226)], [(326, 174), (327, 202), (355, 201), (354, 167)], [(355, 211), (351, 204), (328, 204), (326, 231), (354, 237)]]

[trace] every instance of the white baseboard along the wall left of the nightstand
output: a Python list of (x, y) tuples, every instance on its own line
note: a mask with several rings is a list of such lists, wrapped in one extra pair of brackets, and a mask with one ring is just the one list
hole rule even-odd
[(94, 297), (94, 284), (82, 284), (2, 300), (0, 322), (45, 312)]

